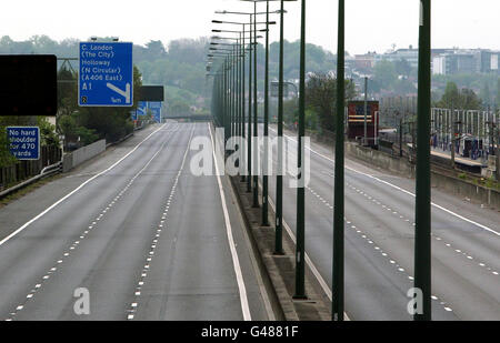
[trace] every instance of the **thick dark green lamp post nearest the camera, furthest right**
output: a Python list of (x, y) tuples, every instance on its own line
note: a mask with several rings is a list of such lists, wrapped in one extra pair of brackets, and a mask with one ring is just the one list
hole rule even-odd
[(417, 204), (414, 238), (414, 287), (421, 291), (421, 309), (416, 321), (430, 321), (431, 309), (431, 0), (420, 0), (419, 87), (417, 138)]

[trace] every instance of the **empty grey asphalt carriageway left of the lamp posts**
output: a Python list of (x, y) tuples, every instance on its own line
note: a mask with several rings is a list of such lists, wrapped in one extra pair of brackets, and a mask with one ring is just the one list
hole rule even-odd
[(273, 319), (227, 181), (190, 172), (197, 135), (140, 131), (0, 209), (0, 319)]

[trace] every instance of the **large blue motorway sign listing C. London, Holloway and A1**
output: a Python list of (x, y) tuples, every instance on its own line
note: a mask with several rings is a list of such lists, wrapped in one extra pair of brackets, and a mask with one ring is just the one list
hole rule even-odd
[(132, 43), (81, 42), (80, 107), (132, 107)]

